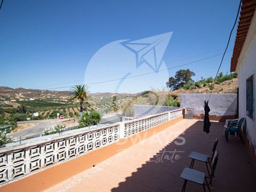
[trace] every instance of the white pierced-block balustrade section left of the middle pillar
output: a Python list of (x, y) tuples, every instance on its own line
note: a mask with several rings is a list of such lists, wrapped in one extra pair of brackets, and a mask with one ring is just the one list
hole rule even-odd
[(89, 132), (87, 130), (0, 153), (0, 184), (116, 142), (119, 140), (119, 129), (119, 125), (113, 125)]

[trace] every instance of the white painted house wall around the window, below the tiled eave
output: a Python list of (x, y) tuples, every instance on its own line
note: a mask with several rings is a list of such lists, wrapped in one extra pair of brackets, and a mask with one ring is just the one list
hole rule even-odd
[(246, 118), (245, 132), (250, 141), (250, 145), (256, 154), (256, 103), (254, 118), (252, 119), (246, 115), (246, 80), (252, 75), (254, 75), (254, 99), (256, 98), (256, 33), (254, 34), (251, 45), (241, 64), (237, 66), (236, 72), (238, 72), (239, 87), (239, 118)]

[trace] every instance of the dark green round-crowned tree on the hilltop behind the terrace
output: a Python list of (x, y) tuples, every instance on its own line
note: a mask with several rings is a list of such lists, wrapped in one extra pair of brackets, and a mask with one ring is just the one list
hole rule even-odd
[(169, 77), (168, 81), (166, 82), (167, 87), (169, 87), (171, 90), (177, 90), (182, 88), (184, 85), (189, 84), (192, 82), (192, 76), (194, 76), (195, 73), (191, 71), (190, 69), (181, 69), (176, 71), (176, 74), (174, 77)]

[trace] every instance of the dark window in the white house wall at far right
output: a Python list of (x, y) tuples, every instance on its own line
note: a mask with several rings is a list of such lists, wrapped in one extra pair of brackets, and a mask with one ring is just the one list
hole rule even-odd
[(253, 118), (254, 115), (254, 76), (246, 80), (246, 115)]

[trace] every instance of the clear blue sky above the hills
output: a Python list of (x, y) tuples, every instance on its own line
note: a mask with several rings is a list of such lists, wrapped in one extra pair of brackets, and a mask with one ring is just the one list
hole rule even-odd
[[(111, 63), (118, 66), (114, 68), (104, 61), (88, 66), (100, 48), (117, 40), (165, 32), (173, 32), (163, 55), (167, 67), (222, 53), (238, 4), (239, 0), (4, 0), (0, 10), (0, 86), (51, 89), (95, 83), (102, 76), (116, 79), (119, 73), (130, 71), (125, 62)], [(233, 49), (235, 32), (228, 50)], [(225, 56), (224, 73), (229, 71), (231, 54)], [(165, 73), (166, 81), (177, 70), (187, 68), (195, 72), (194, 80), (215, 76), (220, 60), (218, 56), (171, 69), (167, 76)], [(145, 72), (147, 69), (141, 68), (135, 74)], [(87, 81), (87, 73), (94, 78)], [(155, 84), (150, 83), (152, 78)], [(158, 79), (147, 75), (131, 78), (120, 91), (134, 93), (151, 85), (164, 86)], [(143, 86), (141, 82), (145, 82)], [(89, 86), (91, 92), (114, 92), (116, 85)]]

